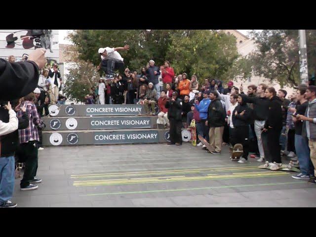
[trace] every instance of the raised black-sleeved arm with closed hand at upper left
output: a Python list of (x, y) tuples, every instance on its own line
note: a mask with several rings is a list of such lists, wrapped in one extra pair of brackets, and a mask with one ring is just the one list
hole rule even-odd
[(47, 63), (45, 52), (44, 48), (32, 51), (26, 62), (0, 59), (0, 100), (14, 100), (33, 92), (39, 82), (39, 69)]

